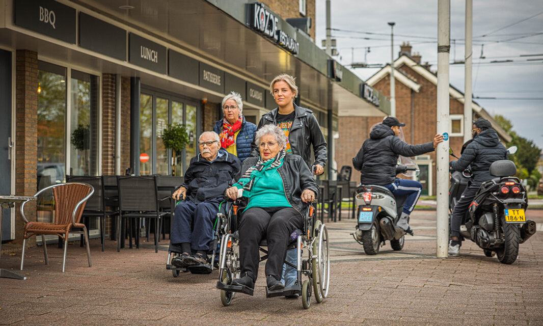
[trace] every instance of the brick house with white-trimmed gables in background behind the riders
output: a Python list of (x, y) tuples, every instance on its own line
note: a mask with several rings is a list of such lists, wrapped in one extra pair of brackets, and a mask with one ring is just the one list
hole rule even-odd
[[(437, 76), (427, 64), (421, 64), (421, 55), (411, 53), (411, 45), (403, 43), (399, 58), (394, 61), (396, 117), (406, 123), (403, 127), (406, 142), (419, 144), (432, 141), (436, 133), (437, 116)], [(383, 67), (371, 76), (366, 83), (384, 96), (390, 96), (390, 65)], [(449, 146), (460, 153), (463, 144), (464, 94), (450, 86), (450, 128)], [(503, 143), (510, 136), (477, 103), (472, 102), (472, 118), (483, 117), (496, 129)], [(382, 117), (339, 117), (339, 138), (336, 146), (338, 167), (352, 166), (351, 159), (356, 155), (365, 139), (369, 137), (371, 126), (382, 121)], [(357, 135), (353, 137), (352, 135)], [(423, 186), (424, 195), (435, 194), (435, 152), (414, 158), (419, 165), (417, 178)], [(353, 171), (351, 180), (358, 181), (360, 173)]]

